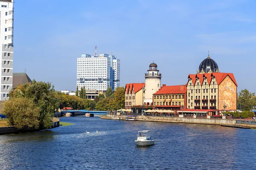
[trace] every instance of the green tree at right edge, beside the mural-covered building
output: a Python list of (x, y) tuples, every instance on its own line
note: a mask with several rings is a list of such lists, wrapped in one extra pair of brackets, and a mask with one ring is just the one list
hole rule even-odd
[(237, 97), (238, 108), (242, 111), (250, 111), (256, 106), (255, 93), (250, 93), (247, 89), (241, 90)]

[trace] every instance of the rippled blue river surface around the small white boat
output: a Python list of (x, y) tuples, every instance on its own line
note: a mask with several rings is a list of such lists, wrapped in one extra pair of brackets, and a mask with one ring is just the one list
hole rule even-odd
[[(256, 170), (255, 129), (85, 116), (60, 121), (73, 125), (0, 135), (0, 170)], [(138, 130), (150, 130), (155, 144), (137, 147)]]

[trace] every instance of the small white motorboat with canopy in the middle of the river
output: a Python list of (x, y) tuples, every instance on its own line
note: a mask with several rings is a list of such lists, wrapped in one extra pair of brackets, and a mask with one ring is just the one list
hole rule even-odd
[(149, 146), (154, 144), (154, 140), (149, 136), (149, 130), (138, 131), (137, 140), (138, 146)]

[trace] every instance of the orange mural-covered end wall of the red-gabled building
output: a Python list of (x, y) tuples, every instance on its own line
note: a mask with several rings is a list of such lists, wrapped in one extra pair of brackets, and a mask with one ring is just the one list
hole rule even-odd
[(219, 104), (218, 108), (224, 110), (224, 105), (227, 105), (226, 110), (236, 110), (236, 84), (227, 76), (219, 85)]

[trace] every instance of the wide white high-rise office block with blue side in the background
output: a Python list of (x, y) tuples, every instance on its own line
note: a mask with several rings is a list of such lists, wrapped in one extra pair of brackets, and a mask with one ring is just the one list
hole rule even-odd
[(119, 87), (120, 60), (116, 56), (95, 53), (94, 56), (82, 54), (77, 58), (77, 82), (79, 91), (86, 89), (88, 99), (104, 94), (108, 87), (114, 91)]

